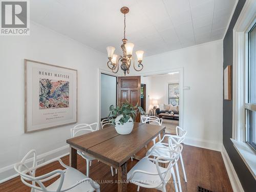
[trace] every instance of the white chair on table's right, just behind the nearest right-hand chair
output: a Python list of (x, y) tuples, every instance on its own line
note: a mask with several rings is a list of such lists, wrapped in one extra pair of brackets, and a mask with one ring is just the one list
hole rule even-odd
[[(181, 127), (177, 126), (176, 127), (176, 135), (165, 134), (163, 136), (163, 138), (158, 143), (155, 144), (155, 146), (165, 147), (165, 148), (168, 148), (168, 150), (173, 150), (176, 147), (176, 145), (183, 143), (186, 134), (187, 134), (186, 131), (181, 129)], [(164, 142), (164, 139), (166, 137), (168, 138), (168, 143)], [(148, 150), (147, 154), (150, 154), (152, 149), (153, 149), (153, 147), (150, 150)], [(161, 157), (161, 156), (168, 155), (168, 152), (165, 152), (165, 151), (162, 151), (162, 150), (160, 151), (160, 150), (156, 149), (151, 154), (154, 157), (159, 157), (159, 156)], [(182, 158), (182, 154), (181, 153), (180, 153), (180, 162), (181, 162), (181, 166), (182, 166), (184, 180), (185, 180), (185, 182), (187, 182), (186, 173), (185, 173), (185, 167), (184, 167), (183, 158)], [(179, 183), (179, 189), (180, 189), (180, 192), (181, 192), (182, 189), (181, 189), (181, 183), (180, 183), (179, 168), (178, 168), (178, 165), (175, 165), (175, 167), (176, 167), (176, 173), (177, 173), (177, 180), (178, 180), (178, 183)]]

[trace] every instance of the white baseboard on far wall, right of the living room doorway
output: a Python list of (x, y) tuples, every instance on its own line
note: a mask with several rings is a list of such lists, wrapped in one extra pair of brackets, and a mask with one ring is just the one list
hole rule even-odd
[(222, 146), (222, 143), (217, 143), (210, 140), (195, 139), (191, 137), (186, 137), (184, 143), (186, 145), (207, 148), (208, 150), (214, 150), (218, 152), (221, 152)]

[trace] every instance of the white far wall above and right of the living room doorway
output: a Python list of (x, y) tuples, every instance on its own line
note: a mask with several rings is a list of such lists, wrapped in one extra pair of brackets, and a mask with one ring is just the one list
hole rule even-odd
[(143, 65), (143, 74), (183, 68), (184, 86), (190, 87), (184, 90), (186, 143), (221, 150), (222, 40), (145, 57)]

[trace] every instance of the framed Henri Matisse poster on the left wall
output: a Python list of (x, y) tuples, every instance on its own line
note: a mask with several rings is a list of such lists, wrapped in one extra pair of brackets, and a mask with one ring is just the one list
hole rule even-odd
[(25, 59), (24, 132), (77, 122), (77, 70)]

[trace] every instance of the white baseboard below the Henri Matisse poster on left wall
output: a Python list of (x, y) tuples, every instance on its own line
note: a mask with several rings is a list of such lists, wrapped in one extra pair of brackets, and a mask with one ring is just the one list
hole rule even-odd
[[(50, 152), (38, 155), (37, 160), (45, 159), (45, 161), (49, 161), (52, 159), (64, 157), (66, 155), (69, 155), (69, 145), (65, 145), (65, 146), (56, 148), (56, 150), (52, 150)], [(32, 162), (32, 158), (28, 160), (28, 163), (29, 162)], [(18, 174), (16, 174), (14, 170), (14, 164), (0, 168), (0, 183), (13, 179), (14, 177), (17, 177), (17, 176)]]

